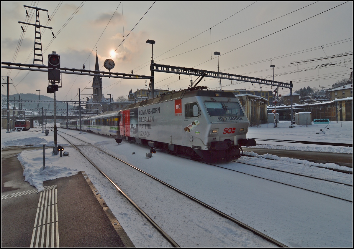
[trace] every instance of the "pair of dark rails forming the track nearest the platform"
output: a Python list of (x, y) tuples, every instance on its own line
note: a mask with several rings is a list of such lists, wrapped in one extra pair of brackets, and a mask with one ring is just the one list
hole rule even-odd
[[(69, 134), (66, 134), (66, 135), (69, 135)], [(71, 135), (69, 135), (69, 136), (71, 136)], [(62, 137), (63, 137), (65, 140), (67, 140), (67, 138), (65, 138), (64, 136), (62, 136)], [(74, 136), (71, 136), (71, 137), (74, 137)], [(87, 143), (86, 141), (83, 141), (83, 140), (81, 140), (81, 139), (79, 139), (79, 138), (76, 138), (76, 137), (74, 137), (74, 139), (80, 140), (81, 142), (84, 142), (84, 143)], [(69, 140), (67, 140), (67, 141), (68, 141), (69, 143), (71, 143)], [(73, 144), (73, 143), (71, 143), (71, 144)], [(89, 144), (89, 143), (87, 143), (87, 144)], [(146, 213), (144, 213), (143, 208), (139, 207), (138, 204), (136, 204), (134, 201), (132, 201), (132, 199), (131, 199), (125, 192), (122, 191), (122, 188), (120, 188), (120, 187), (115, 183), (114, 180), (110, 179), (110, 177), (108, 177), (107, 174), (104, 173), (103, 170), (100, 169), (99, 166), (97, 166), (97, 164), (95, 164), (95, 162), (94, 162), (95, 160), (92, 160), (92, 158), (89, 159), (89, 157), (94, 154), (93, 152), (92, 152), (92, 153), (88, 153), (88, 154), (90, 154), (90, 156), (87, 156), (87, 155), (85, 155), (85, 154), (87, 154), (87, 153), (83, 153), (83, 152), (82, 152), (83, 148), (87, 149), (87, 146), (82, 146), (82, 145), (83, 145), (83, 144), (81, 144), (81, 145), (79, 145), (79, 146), (75, 146), (75, 148), (76, 148), (82, 155), (84, 155), (85, 158), (87, 158), (87, 159), (91, 162), (91, 164), (92, 164), (93, 166), (95, 166), (107, 179), (109, 179), (109, 181), (115, 186), (115, 188), (116, 188), (118, 191), (120, 191), (120, 192), (134, 205), (134, 207), (135, 207), (139, 212), (141, 212), (141, 213), (143, 214), (143, 216), (162, 234), (162, 236), (164, 236), (174, 247), (179, 247), (179, 245), (178, 245), (169, 235), (167, 235), (167, 233), (166, 233), (164, 230), (162, 230), (159, 225), (157, 225), (158, 222), (155, 222), (153, 219), (151, 219), (151, 218), (149, 217), (149, 215), (147, 215)], [(73, 144), (73, 146), (74, 146), (74, 144)], [(82, 146), (81, 149), (78, 148), (78, 147), (80, 147), (80, 146)], [(105, 152), (104, 150), (98, 148), (97, 146), (93, 146), (92, 144), (91, 144), (91, 146), (92, 146), (93, 148), (99, 150), (101, 153), (105, 153), (106, 155), (110, 156), (110, 158), (112, 158), (112, 159), (114, 158), (115, 160), (118, 160), (119, 162), (124, 163), (125, 165), (129, 166), (130, 168), (133, 168), (134, 170), (137, 170), (137, 171), (143, 173), (145, 176), (147, 176), (147, 177), (153, 179), (155, 182), (158, 182), (158, 184), (162, 184), (163, 186), (167, 186), (167, 187), (170, 189), (170, 191), (172, 190), (173, 192), (178, 193), (178, 195), (183, 195), (183, 197), (187, 197), (190, 201), (192, 201), (193, 203), (195, 203), (196, 205), (199, 206), (197, 212), (200, 212), (200, 210), (201, 210), (201, 209), (200, 209), (200, 208), (201, 208), (200, 205), (201, 205), (201, 206), (203, 206), (204, 208), (206, 208), (207, 210), (209, 210), (209, 212), (212, 211), (217, 217), (219, 217), (219, 215), (220, 215), (221, 217), (223, 217), (223, 218), (225, 218), (225, 219), (227, 219), (227, 220), (232, 221), (233, 223), (235, 223), (235, 224), (237, 224), (237, 225), (243, 227), (244, 229), (247, 229), (247, 230), (251, 231), (252, 233), (255, 233), (256, 235), (262, 237), (263, 239), (266, 239), (267, 241), (269, 241), (269, 242), (271, 242), (271, 243), (273, 243), (273, 244), (275, 244), (275, 245), (277, 245), (277, 246), (279, 246), (279, 247), (287, 247), (285, 244), (282, 244), (281, 242), (276, 241), (275, 239), (273, 239), (273, 238), (271, 238), (271, 237), (265, 235), (264, 233), (262, 233), (262, 232), (260, 232), (260, 231), (258, 231), (258, 230), (256, 230), (256, 229), (254, 229), (254, 228), (252, 228), (252, 227), (250, 227), (250, 226), (248, 226), (248, 225), (242, 223), (241, 221), (239, 221), (239, 220), (237, 220), (237, 219), (235, 219), (235, 218), (229, 216), (228, 214), (225, 214), (225, 213), (219, 211), (219, 210), (216, 209), (216, 208), (213, 208), (213, 207), (209, 206), (208, 204), (206, 204), (206, 203), (204, 203), (204, 202), (202, 202), (202, 201), (196, 199), (196, 198), (193, 197), (193, 196), (190, 196), (190, 195), (186, 194), (185, 192), (183, 192), (183, 191), (181, 191), (181, 190), (179, 190), (179, 189), (177, 189), (177, 188), (175, 188), (175, 187), (173, 187), (173, 186), (167, 184), (166, 182), (163, 182), (162, 180), (160, 180), (160, 179), (158, 179), (158, 178), (156, 178), (156, 177), (154, 177), (154, 176), (152, 176), (152, 175), (150, 175), (150, 174), (148, 174), (148, 173), (146, 173), (146, 172), (144, 172), (144, 171), (142, 171), (142, 170), (139, 170), (137, 167), (135, 167), (135, 166), (133, 166), (133, 165), (131, 165), (131, 164), (129, 164), (129, 163), (127, 163), (127, 162), (125, 162), (125, 161), (119, 159), (119, 158), (117, 158), (116, 156), (114, 156), (114, 155), (112, 155), (112, 154), (110, 154), (110, 153)], [(149, 189), (149, 187), (147, 187), (147, 189)], [(169, 195), (171, 195), (171, 194), (169, 194)], [(145, 206), (146, 206), (146, 204), (145, 204)], [(175, 211), (175, 212), (176, 212), (176, 211)], [(150, 216), (151, 216), (151, 215), (150, 215)], [(212, 220), (213, 217), (208, 217), (207, 219), (208, 219), (208, 220), (209, 220), (209, 219)], [(216, 219), (219, 219), (219, 218), (216, 218)], [(217, 222), (217, 221), (216, 221), (216, 222)]]

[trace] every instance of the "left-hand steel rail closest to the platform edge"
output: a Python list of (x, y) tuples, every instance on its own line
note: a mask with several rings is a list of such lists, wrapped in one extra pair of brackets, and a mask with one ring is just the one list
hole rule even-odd
[[(61, 131), (62, 132), (62, 131)], [(64, 132), (62, 132), (62, 133), (64, 133)], [(69, 135), (69, 134), (67, 134), (67, 135)], [(65, 137), (63, 137), (62, 135), (59, 135), (59, 136), (61, 136), (62, 138), (64, 138), (66, 141), (68, 141), (69, 142), (69, 140), (67, 140)], [(69, 136), (71, 136), (71, 135), (69, 135)], [(72, 136), (72, 137), (74, 137), (74, 136)], [(77, 138), (77, 137), (74, 137), (74, 138), (76, 138), (76, 139), (78, 139), (78, 140), (80, 140), (80, 141), (82, 141), (82, 142), (85, 142), (85, 143), (87, 143), (86, 141), (83, 141), (83, 140), (81, 140), (80, 138)], [(71, 142), (69, 142), (70, 144), (72, 144), (72, 146), (76, 149), (76, 150), (78, 150), (78, 152), (80, 152), (93, 166), (95, 166), (96, 168), (97, 168), (97, 170), (105, 177), (105, 178), (107, 178), (108, 180), (109, 180), (109, 182), (110, 183), (112, 183), (114, 186), (115, 186), (115, 188), (119, 191), (119, 192), (121, 192), (122, 193), (122, 195), (124, 195), (124, 197), (125, 198), (127, 198), (127, 200), (161, 233), (161, 235), (162, 236), (164, 236), (166, 239), (167, 239), (167, 241), (168, 242), (170, 242), (172, 245), (173, 245), (173, 247), (180, 247), (169, 235), (167, 235), (167, 233), (164, 231), (164, 230), (162, 230), (161, 229), (161, 227), (158, 225), (158, 224), (156, 224), (155, 223), (155, 221), (153, 221), (129, 196), (127, 196), (95, 163), (93, 163), (78, 147), (76, 147), (73, 143), (71, 143)], [(93, 146), (91, 143), (88, 143), (88, 144), (90, 144), (92, 147), (95, 147), (95, 148), (97, 148), (96, 146)], [(97, 149), (99, 149), (99, 148), (97, 148)], [(101, 150), (101, 149), (99, 149), (99, 150)], [(102, 152), (104, 152), (103, 150), (101, 150)], [(108, 153), (107, 153), (108, 154)], [(110, 155), (110, 154), (108, 154), (108, 155)], [(112, 156), (112, 155), (110, 155), (110, 156)], [(121, 160), (120, 160), (121, 161)], [(123, 161), (122, 161), (123, 162)], [(126, 163), (126, 162), (124, 162), (124, 163)], [(127, 163), (126, 163), (127, 164)]]

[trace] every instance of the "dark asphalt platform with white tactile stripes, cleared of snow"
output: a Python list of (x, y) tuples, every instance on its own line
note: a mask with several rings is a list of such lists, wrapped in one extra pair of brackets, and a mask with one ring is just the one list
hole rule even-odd
[(84, 171), (38, 192), (19, 152), (1, 151), (1, 247), (134, 247)]

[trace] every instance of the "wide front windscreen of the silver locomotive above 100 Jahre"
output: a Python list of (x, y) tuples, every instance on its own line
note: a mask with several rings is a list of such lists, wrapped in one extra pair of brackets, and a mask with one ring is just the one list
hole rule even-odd
[(244, 112), (237, 102), (205, 101), (204, 104), (208, 114), (212, 117), (244, 116)]

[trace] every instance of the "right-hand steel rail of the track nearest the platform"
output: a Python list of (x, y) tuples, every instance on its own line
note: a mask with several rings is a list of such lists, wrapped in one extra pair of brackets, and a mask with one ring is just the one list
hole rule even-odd
[[(61, 131), (61, 132), (62, 132), (62, 131)], [(65, 132), (63, 132), (63, 133), (65, 133)], [(69, 134), (67, 134), (67, 135), (69, 135)], [(71, 135), (69, 135), (69, 136), (71, 136)], [(74, 138), (76, 138), (76, 139), (78, 139), (78, 140), (80, 140), (80, 141), (82, 141), (82, 142), (87, 143), (86, 141), (81, 140), (80, 138), (77, 138), (77, 137), (74, 137)], [(287, 245), (285, 245), (285, 244), (283, 244), (283, 243), (281, 243), (281, 242), (279, 242), (279, 241), (276, 241), (275, 239), (269, 237), (268, 235), (265, 235), (264, 233), (262, 233), (262, 232), (260, 232), (260, 231), (258, 231), (258, 230), (256, 230), (256, 229), (254, 229), (253, 227), (250, 227), (249, 225), (246, 225), (245, 223), (243, 223), (243, 222), (241, 222), (241, 221), (239, 221), (239, 220), (237, 220), (237, 219), (231, 217), (230, 215), (225, 214), (225, 213), (219, 211), (219, 210), (216, 209), (216, 208), (213, 208), (212, 206), (210, 206), (210, 205), (208, 205), (208, 204), (206, 204), (206, 203), (204, 203), (204, 202), (202, 202), (202, 201), (200, 201), (200, 200), (194, 198), (193, 196), (188, 195), (187, 193), (185, 193), (185, 192), (183, 192), (183, 191), (181, 191), (181, 190), (179, 190), (179, 189), (173, 187), (172, 185), (170, 185), (170, 184), (168, 184), (168, 183), (166, 183), (166, 182), (164, 182), (164, 181), (162, 181), (162, 180), (160, 180), (160, 179), (158, 179), (158, 178), (156, 178), (156, 177), (154, 177), (154, 176), (152, 176), (152, 175), (150, 175), (150, 174), (148, 174), (148, 173), (146, 173), (146, 172), (140, 170), (139, 168), (137, 168), (137, 167), (135, 167), (135, 166), (133, 166), (133, 165), (131, 165), (131, 164), (129, 164), (129, 163), (127, 163), (127, 162), (125, 162), (125, 161), (119, 159), (119, 158), (117, 158), (116, 156), (114, 156), (114, 155), (112, 155), (112, 154), (110, 154), (110, 153), (108, 153), (108, 152), (105, 152), (104, 150), (102, 150), (102, 149), (100, 149), (100, 148), (98, 148), (98, 147), (96, 147), (96, 146), (94, 146), (94, 145), (92, 145), (92, 146), (95, 147), (95, 148), (97, 148), (97, 149), (99, 149), (99, 150), (101, 150), (102, 152), (104, 152), (104, 153), (106, 153), (106, 154), (112, 156), (113, 158), (115, 158), (115, 159), (117, 159), (117, 160), (123, 162), (124, 164), (129, 165), (129, 166), (135, 168), (137, 171), (140, 171), (140, 172), (146, 174), (147, 176), (149, 176), (149, 177), (153, 178), (154, 180), (156, 180), (156, 181), (158, 181), (158, 182), (164, 184), (165, 186), (167, 186), (167, 187), (169, 187), (169, 188), (171, 188), (171, 189), (177, 191), (179, 194), (182, 194), (182, 195), (188, 197), (189, 199), (191, 199), (191, 200), (193, 200), (193, 201), (195, 201), (195, 202), (201, 204), (202, 206), (204, 206), (204, 207), (210, 209), (211, 211), (213, 211), (213, 212), (215, 212), (215, 213), (221, 215), (222, 217), (224, 217), (224, 218), (226, 218), (226, 219), (228, 219), (228, 220), (233, 221), (234, 223), (238, 224), (239, 226), (241, 226), (241, 227), (243, 227), (243, 228), (245, 228), (245, 229), (247, 229), (247, 230), (249, 230), (249, 231), (255, 233), (256, 235), (258, 235), (258, 236), (260, 236), (260, 237), (266, 239), (267, 241), (269, 241), (269, 242), (271, 242), (271, 243), (273, 243), (273, 244), (275, 244), (275, 245), (278, 245), (279, 247), (283, 247), (283, 248), (288, 247)]]

